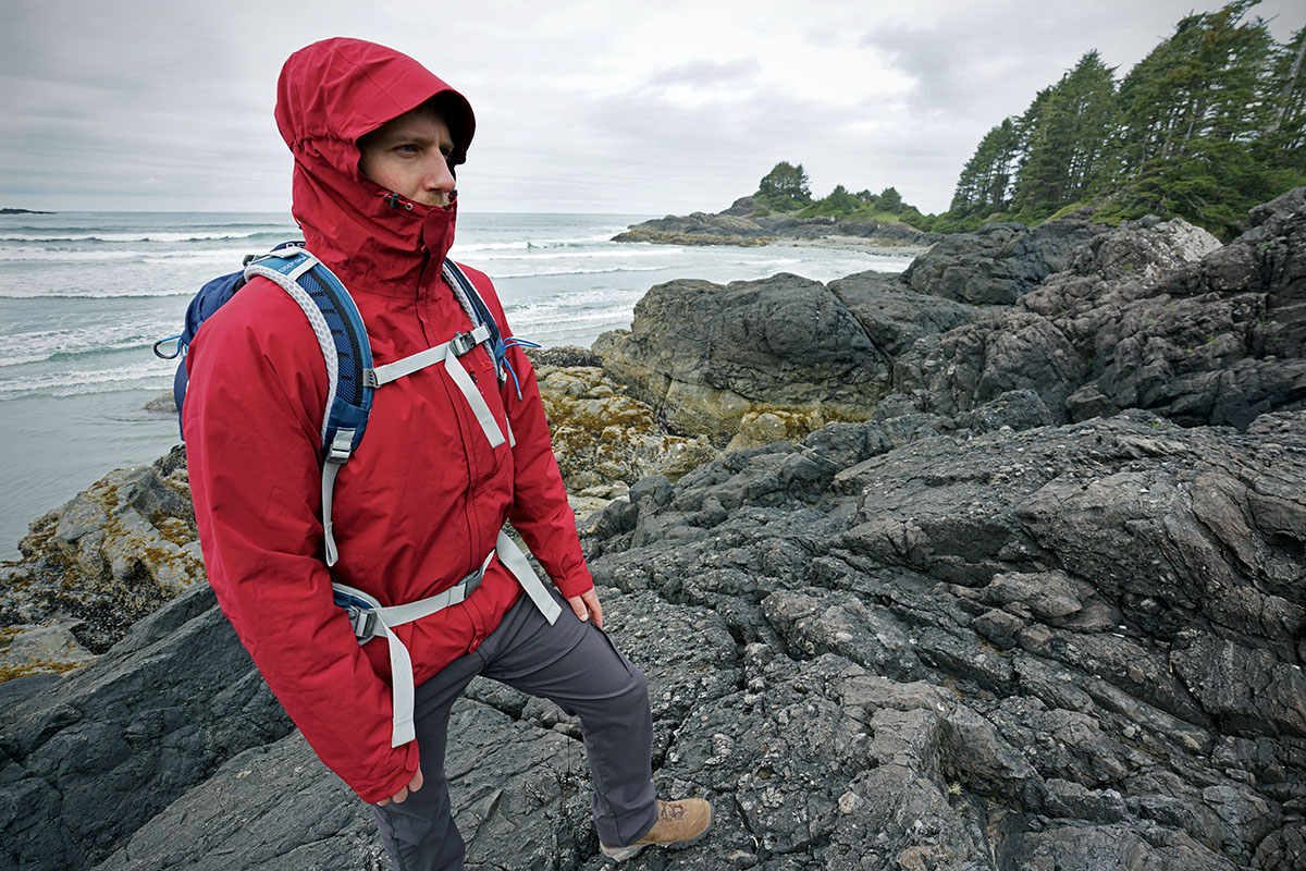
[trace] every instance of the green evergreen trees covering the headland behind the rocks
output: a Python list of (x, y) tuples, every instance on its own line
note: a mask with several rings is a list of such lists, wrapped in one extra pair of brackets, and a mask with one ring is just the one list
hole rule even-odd
[(1229, 239), (1247, 210), (1306, 184), (1306, 27), (1277, 43), (1258, 0), (1186, 16), (1122, 78), (1094, 50), (1003, 119), (963, 167), (949, 209), (922, 214), (897, 189), (814, 198), (780, 162), (748, 214), (901, 221), (955, 232), (1081, 210), (1101, 223), (1182, 217)]

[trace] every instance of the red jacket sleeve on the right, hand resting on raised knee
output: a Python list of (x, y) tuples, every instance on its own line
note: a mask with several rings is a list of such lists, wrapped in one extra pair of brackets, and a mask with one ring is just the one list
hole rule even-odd
[[(511, 338), (512, 329), (490, 279), (475, 269), (465, 272), (475, 282), (503, 337)], [(522, 541), (549, 572), (558, 590), (564, 597), (580, 595), (594, 588), (594, 578), (580, 551), (576, 515), (567, 501), (567, 487), (554, 457), (535, 370), (520, 347), (508, 350), (508, 363), (517, 376), (517, 381), (513, 381), (509, 375), (500, 389), (517, 443), (512, 449), (513, 498), (508, 521), (521, 533)], [(518, 383), (521, 398), (517, 398)]]

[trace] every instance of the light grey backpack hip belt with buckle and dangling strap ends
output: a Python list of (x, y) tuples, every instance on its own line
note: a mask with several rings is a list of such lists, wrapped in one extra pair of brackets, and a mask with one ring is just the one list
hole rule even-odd
[(404, 642), (394, 635), (394, 627), (421, 620), (424, 616), (466, 601), (473, 590), (481, 586), (486, 569), (496, 555), (499, 556), (499, 562), (517, 578), (521, 589), (530, 597), (534, 606), (539, 609), (539, 612), (545, 615), (545, 619), (550, 624), (555, 623), (558, 615), (562, 614), (562, 607), (549, 594), (549, 590), (545, 589), (543, 582), (535, 575), (534, 569), (530, 568), (530, 563), (526, 562), (526, 556), (521, 552), (521, 548), (508, 537), (508, 533), (502, 530), (499, 541), (495, 542), (495, 548), (481, 563), (481, 568), (449, 589), (424, 599), (418, 599), (417, 602), (385, 607), (375, 597), (359, 589), (346, 586), (345, 584), (332, 584), (334, 602), (345, 609), (345, 612), (349, 615), (350, 623), (354, 627), (354, 637), (358, 639), (358, 642), (367, 644), (376, 636), (384, 635), (389, 644), (390, 703), (394, 710), (393, 726), (390, 729), (390, 747), (400, 747), (417, 736), (413, 725), (413, 700), (415, 693), (413, 684), (413, 658), (409, 656)]

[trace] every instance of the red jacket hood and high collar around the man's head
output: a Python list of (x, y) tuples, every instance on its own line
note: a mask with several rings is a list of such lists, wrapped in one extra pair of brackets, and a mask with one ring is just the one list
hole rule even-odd
[(295, 157), (294, 217), (308, 249), (351, 290), (417, 293), (453, 244), (457, 208), (409, 202), (358, 168), (358, 140), (432, 98), (453, 137), (451, 167), (475, 132), (466, 98), (407, 55), (362, 39), (296, 51), (277, 82), (277, 128)]

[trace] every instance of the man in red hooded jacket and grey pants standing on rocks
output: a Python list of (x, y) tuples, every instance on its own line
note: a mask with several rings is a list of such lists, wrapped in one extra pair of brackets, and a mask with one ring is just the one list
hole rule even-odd
[[(276, 116), (295, 157), (306, 247), (357, 302), (375, 364), (470, 330), (466, 300), (441, 273), (453, 243), (453, 170), (475, 128), (468, 101), (411, 57), (328, 39), (286, 61)], [(464, 270), (507, 337), (490, 281)], [(644, 675), (602, 633), (534, 372), (518, 347), (507, 362), (520, 389), (500, 381), (482, 345), (377, 389), (366, 439), (340, 470), (329, 524), (320, 471), (329, 376), (289, 294), (251, 279), (204, 324), (187, 362), (183, 423), (209, 581), (310, 744), (372, 803), (396, 867), (464, 867), (444, 750), (449, 709), (477, 674), (580, 716), (606, 855), (707, 831), (701, 799), (654, 798)], [(538, 581), (507, 565), (505, 520), (560, 597), (542, 588), (533, 592), (541, 603), (522, 595)], [(451, 589), (466, 598), (360, 645), (333, 605), (333, 581), (380, 606)], [(390, 684), (406, 680), (392, 669), (396, 645), (411, 659), (415, 739), (392, 697)]]

